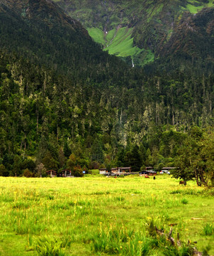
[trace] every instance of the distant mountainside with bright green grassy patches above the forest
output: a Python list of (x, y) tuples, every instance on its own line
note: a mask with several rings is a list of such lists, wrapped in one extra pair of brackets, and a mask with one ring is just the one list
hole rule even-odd
[[(94, 41), (101, 43), (104, 50), (120, 57), (133, 59), (137, 65), (151, 63), (164, 56), (174, 44), (176, 33), (184, 23), (195, 16), (206, 15), (204, 8), (210, 10), (214, 6), (213, 0), (207, 1), (75, 1), (55, 0), (67, 13), (77, 18)], [(210, 16), (210, 19), (213, 20)], [(203, 26), (203, 24), (201, 24)], [(211, 23), (209, 26), (212, 26)], [(206, 29), (203, 26), (204, 29)], [(209, 30), (211, 31), (211, 30)], [(198, 32), (198, 31), (197, 31)], [(200, 41), (201, 33), (188, 33), (193, 43)], [(203, 35), (204, 36), (204, 35)], [(186, 37), (180, 30), (179, 38)], [(205, 35), (209, 38), (210, 33)], [(208, 44), (208, 43), (207, 43)], [(192, 48), (179, 46), (180, 51), (191, 55)], [(203, 48), (203, 44), (201, 46)], [(174, 50), (171, 49), (171, 53)], [(206, 58), (207, 47), (204, 47), (200, 58)], [(128, 60), (131, 64), (130, 59)], [(206, 61), (206, 60), (205, 60)]]

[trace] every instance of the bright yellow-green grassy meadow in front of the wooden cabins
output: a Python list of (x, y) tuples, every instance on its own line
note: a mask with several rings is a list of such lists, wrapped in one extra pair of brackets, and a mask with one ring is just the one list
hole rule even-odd
[(0, 190), (0, 255), (188, 255), (154, 225), (214, 255), (213, 194), (193, 182), (0, 177)]

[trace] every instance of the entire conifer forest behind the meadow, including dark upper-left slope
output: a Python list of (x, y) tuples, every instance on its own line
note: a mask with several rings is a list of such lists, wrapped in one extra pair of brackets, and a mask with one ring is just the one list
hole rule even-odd
[[(200, 143), (211, 136), (205, 128), (213, 125), (212, 63), (187, 59), (195, 69), (185, 63), (181, 68), (184, 56), (174, 58), (173, 50), (184, 41), (179, 33), (174, 48), (164, 53), (169, 67), (159, 63), (162, 72), (154, 75), (157, 63), (129, 68), (50, 1), (7, 0), (0, 9), (1, 175), (64, 168), (81, 175), (101, 166), (162, 169), (177, 166), (192, 127), (200, 127)], [(203, 9), (194, 19), (202, 38), (212, 17), (213, 9)], [(206, 28), (212, 35), (212, 26)], [(121, 27), (121, 36), (133, 29)], [(203, 48), (195, 49), (200, 57)]]

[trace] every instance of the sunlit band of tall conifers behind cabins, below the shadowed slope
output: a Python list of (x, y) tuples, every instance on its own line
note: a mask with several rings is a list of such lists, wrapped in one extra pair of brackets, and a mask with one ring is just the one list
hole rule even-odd
[[(38, 174), (38, 169), (178, 166), (191, 127), (213, 124), (212, 75), (179, 73), (172, 79), (127, 70), (124, 85), (111, 75), (109, 85), (107, 78), (99, 83), (79, 78), (74, 84), (4, 52), (0, 73), (4, 176), (22, 175), (26, 169)], [(190, 178), (195, 176), (192, 172)]]

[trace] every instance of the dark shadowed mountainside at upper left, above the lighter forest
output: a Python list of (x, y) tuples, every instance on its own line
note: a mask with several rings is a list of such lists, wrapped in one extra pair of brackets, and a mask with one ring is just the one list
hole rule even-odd
[(69, 73), (74, 79), (93, 76), (92, 67), (98, 77), (108, 61), (111, 68), (115, 61), (118, 65), (119, 60), (103, 53), (86, 29), (51, 1), (3, 0), (0, 8), (0, 47), (4, 50)]

